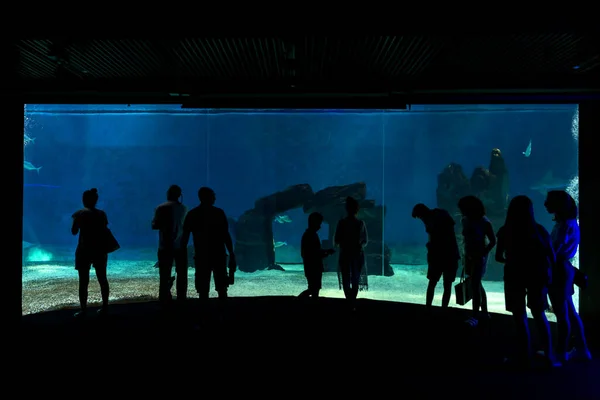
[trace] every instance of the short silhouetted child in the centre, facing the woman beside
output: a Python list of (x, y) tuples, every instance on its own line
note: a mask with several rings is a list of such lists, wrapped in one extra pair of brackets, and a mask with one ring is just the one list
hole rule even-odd
[(308, 216), (308, 229), (302, 235), (301, 254), (304, 262), (304, 276), (308, 282), (308, 289), (300, 293), (298, 297), (319, 297), (323, 280), (323, 258), (335, 253), (333, 249), (321, 248), (319, 229), (323, 223), (323, 216), (314, 212)]

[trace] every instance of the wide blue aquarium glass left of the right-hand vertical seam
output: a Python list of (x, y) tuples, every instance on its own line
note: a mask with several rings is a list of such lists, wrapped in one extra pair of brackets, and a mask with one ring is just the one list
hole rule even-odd
[[(389, 256), (382, 257), (382, 124), (380, 111), (27, 105), (23, 313), (78, 306), (71, 216), (90, 188), (98, 189), (98, 208), (121, 244), (109, 256), (111, 301), (157, 298), (151, 220), (171, 184), (182, 187), (189, 208), (198, 205), (201, 186), (215, 190), (239, 264), (231, 296), (306, 289), (300, 240), (307, 217), (323, 214), (319, 235), (331, 246), (346, 196), (360, 200), (367, 222), (369, 273), (389, 275)], [(326, 260), (321, 293), (343, 297), (335, 257)], [(189, 261), (187, 294), (196, 297)], [(89, 301), (100, 302), (93, 270)]]

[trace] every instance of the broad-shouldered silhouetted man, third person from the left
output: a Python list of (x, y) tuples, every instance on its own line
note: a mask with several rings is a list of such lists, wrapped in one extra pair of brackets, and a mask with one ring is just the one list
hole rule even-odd
[(214, 206), (216, 195), (212, 189), (200, 188), (198, 198), (200, 205), (191, 209), (185, 217), (182, 243), (187, 247), (190, 234), (194, 236), (195, 283), (200, 300), (208, 300), (210, 277), (213, 273), (215, 289), (223, 305), (229, 286), (227, 252), (230, 273), (235, 272), (237, 266), (229, 223), (225, 212)]

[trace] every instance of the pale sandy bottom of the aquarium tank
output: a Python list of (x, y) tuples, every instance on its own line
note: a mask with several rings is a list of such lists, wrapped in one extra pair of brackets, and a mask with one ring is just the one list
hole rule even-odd
[[(62, 264), (62, 263), (61, 263)], [(109, 281), (111, 285), (111, 301), (147, 301), (155, 300), (158, 293), (158, 270), (152, 267), (152, 261), (122, 261), (114, 260), (109, 265)], [(285, 265), (286, 271), (258, 271), (244, 273), (238, 271), (235, 284), (230, 287), (230, 296), (295, 296), (306, 288), (306, 280), (302, 265)], [(393, 265), (394, 276), (369, 276), (369, 290), (362, 291), (359, 298), (372, 300), (397, 301), (403, 303), (423, 304), (427, 278), (426, 266)], [(196, 297), (193, 277), (194, 270), (190, 269), (188, 296)], [(91, 273), (89, 301), (92, 305), (99, 304), (100, 292), (94, 272)], [(458, 279), (455, 283), (458, 283)], [(69, 265), (39, 263), (35, 266), (23, 267), (23, 315), (49, 311), (64, 307), (78, 307), (77, 271)], [(442, 296), (441, 282), (438, 284), (435, 305), (439, 305)], [(504, 292), (502, 282), (484, 282), (487, 292), (490, 312), (506, 314), (504, 309)], [(175, 294), (175, 288), (173, 288)], [(336, 273), (325, 273), (323, 276), (322, 296), (343, 298), (343, 292), (338, 289)], [(211, 290), (211, 297), (216, 292)], [(575, 294), (578, 301), (577, 292)], [(454, 293), (451, 306), (470, 308), (456, 304)], [(555, 320), (549, 313), (548, 318)]]

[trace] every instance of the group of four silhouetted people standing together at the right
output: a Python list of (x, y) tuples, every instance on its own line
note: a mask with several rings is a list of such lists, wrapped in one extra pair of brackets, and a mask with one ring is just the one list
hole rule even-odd
[[(553, 190), (548, 193), (544, 205), (548, 213), (554, 214), (551, 233), (536, 222), (533, 203), (523, 195), (510, 201), (504, 225), (494, 233), (483, 202), (475, 196), (461, 198), (458, 209), (462, 215), (462, 256), (455, 221), (446, 210), (417, 204), (412, 212), (413, 218), (423, 221), (429, 235), (429, 285), (425, 300), (428, 309), (431, 309), (435, 287), (442, 278), (442, 309), (448, 308), (462, 259), (463, 272), (468, 278), (465, 282), (471, 285), (472, 294), (472, 316), (466, 322), (477, 326), (488, 320), (490, 314), (482, 280), (489, 254), (496, 246), (495, 260), (504, 264), (505, 307), (513, 315), (518, 339), (514, 356), (505, 361), (516, 365), (529, 365), (534, 355), (527, 308), (533, 316), (543, 349), (538, 353), (548, 365), (560, 366), (569, 360), (591, 359), (583, 324), (573, 303), (575, 276), (580, 273), (571, 262), (579, 247), (577, 204), (566, 191)], [(546, 317), (549, 304), (557, 321), (555, 341)], [(575, 345), (569, 349), (571, 337), (575, 338)]]

